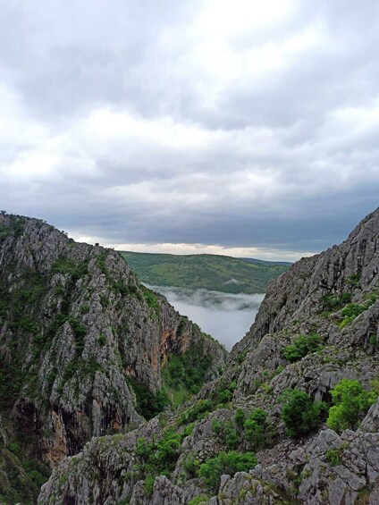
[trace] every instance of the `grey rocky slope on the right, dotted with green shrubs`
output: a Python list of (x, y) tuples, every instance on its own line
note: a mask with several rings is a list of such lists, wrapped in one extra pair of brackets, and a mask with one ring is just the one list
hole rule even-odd
[[(330, 404), (341, 379), (378, 392), (378, 268), (379, 209), (341, 246), (300, 260), (270, 283), (223, 376), (172, 415), (88, 442), (55, 467), (40, 505), (377, 503), (379, 402), (353, 429), (335, 433), (320, 418), (308, 433), (291, 438), (281, 395), (296, 389)], [(299, 341), (310, 337), (315, 347), (300, 349)], [(261, 431), (251, 423), (261, 415), (258, 408), (265, 409)], [(215, 470), (216, 458), (232, 450), (254, 450), (257, 466), (236, 473), (241, 466), (223, 461), (227, 475), (206, 479), (204, 464)]]

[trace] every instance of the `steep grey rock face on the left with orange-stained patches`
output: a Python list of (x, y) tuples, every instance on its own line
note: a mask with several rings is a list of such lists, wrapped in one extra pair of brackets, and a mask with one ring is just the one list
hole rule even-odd
[(195, 358), (202, 364), (201, 381), (190, 384), (196, 391), (220, 374), (226, 352), (142, 286), (114, 250), (75, 243), (37, 219), (0, 215), (0, 415), (8, 445), (16, 441), (25, 458), (52, 467), (92, 436), (140, 425), (146, 408), (154, 414), (172, 394), (173, 357), (184, 369)]

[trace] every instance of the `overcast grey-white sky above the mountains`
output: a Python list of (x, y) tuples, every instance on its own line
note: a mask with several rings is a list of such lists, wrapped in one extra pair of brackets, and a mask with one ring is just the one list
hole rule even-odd
[(0, 206), (295, 259), (379, 195), (379, 2), (0, 0)]

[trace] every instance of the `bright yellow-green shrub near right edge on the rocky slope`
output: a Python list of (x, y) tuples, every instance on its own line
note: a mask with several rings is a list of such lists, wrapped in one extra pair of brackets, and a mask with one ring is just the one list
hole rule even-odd
[(366, 391), (358, 381), (350, 379), (342, 379), (331, 394), (333, 407), (326, 424), (336, 432), (356, 429), (377, 397), (375, 391)]

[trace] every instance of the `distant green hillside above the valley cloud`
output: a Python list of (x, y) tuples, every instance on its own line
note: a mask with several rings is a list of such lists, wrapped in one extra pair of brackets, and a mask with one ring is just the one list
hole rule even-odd
[(291, 266), (209, 254), (121, 254), (142, 282), (153, 286), (206, 288), (227, 293), (264, 293), (267, 283)]

